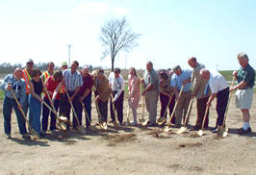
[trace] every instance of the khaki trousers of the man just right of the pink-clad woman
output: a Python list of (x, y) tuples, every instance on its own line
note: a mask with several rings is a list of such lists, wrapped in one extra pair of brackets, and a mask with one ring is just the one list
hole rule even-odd
[(156, 123), (157, 118), (157, 101), (158, 101), (158, 92), (156, 90), (146, 91), (145, 92), (145, 106), (146, 110), (149, 113), (149, 121), (151, 123)]

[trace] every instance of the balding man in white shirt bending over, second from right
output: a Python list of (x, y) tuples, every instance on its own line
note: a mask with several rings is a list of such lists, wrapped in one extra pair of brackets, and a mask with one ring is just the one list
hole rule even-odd
[(218, 126), (222, 126), (224, 114), (227, 107), (228, 96), (229, 96), (229, 87), (225, 78), (218, 73), (218, 71), (209, 71), (205, 68), (201, 69), (200, 75), (203, 79), (208, 80), (208, 85), (205, 88), (204, 93), (207, 93), (209, 87), (211, 88), (211, 95), (207, 102), (207, 106), (210, 107), (212, 101), (217, 97), (217, 106), (216, 111), (218, 113), (216, 128), (213, 130), (213, 133), (217, 133)]

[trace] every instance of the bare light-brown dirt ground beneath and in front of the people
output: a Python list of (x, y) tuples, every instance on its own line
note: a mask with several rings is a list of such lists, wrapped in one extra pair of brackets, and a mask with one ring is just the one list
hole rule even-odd
[[(79, 132), (57, 131), (45, 138), (24, 140), (12, 115), (12, 139), (3, 131), (0, 113), (0, 175), (156, 175), (156, 174), (256, 174), (256, 93), (251, 109), (252, 133), (237, 135), (243, 124), (242, 114), (235, 108), (234, 96), (227, 118), (228, 137), (218, 138), (209, 130), (203, 137), (195, 131), (177, 135), (177, 128), (168, 133), (158, 127), (114, 127), (82, 135)], [(2, 111), (2, 101), (0, 101)], [(127, 100), (124, 102), (126, 112)], [(210, 110), (210, 126), (215, 126), (215, 104)], [(190, 124), (195, 123), (193, 104)], [(158, 104), (160, 111), (160, 104)], [(138, 119), (141, 118), (141, 107)], [(126, 113), (124, 113), (126, 116)], [(147, 118), (147, 112), (145, 112)], [(97, 123), (92, 103), (92, 124)], [(132, 119), (132, 115), (130, 115)], [(110, 118), (109, 118), (110, 120)], [(126, 118), (124, 119), (126, 121)], [(83, 118), (83, 123), (85, 117)]]

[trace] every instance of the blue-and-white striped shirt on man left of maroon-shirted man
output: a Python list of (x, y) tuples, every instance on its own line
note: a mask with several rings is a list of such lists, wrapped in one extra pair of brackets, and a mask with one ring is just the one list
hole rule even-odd
[(70, 69), (64, 70), (64, 85), (67, 90), (74, 91), (76, 87), (83, 86), (83, 78), (81, 73), (75, 71), (71, 73)]

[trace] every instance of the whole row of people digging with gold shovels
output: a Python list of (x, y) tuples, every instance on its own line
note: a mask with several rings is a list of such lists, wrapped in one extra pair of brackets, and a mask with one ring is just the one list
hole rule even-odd
[[(160, 118), (166, 119), (166, 110), (171, 114), (170, 122), (175, 127), (181, 127), (185, 122), (191, 101), (196, 99), (197, 119), (192, 130), (202, 127), (208, 128), (209, 107), (217, 98), (216, 110), (218, 118), (213, 132), (218, 126), (223, 125), (224, 114), (227, 109), (230, 92), (236, 91), (236, 105), (243, 113), (243, 127), (239, 134), (251, 132), (249, 125), (249, 110), (252, 105), (255, 71), (248, 63), (244, 53), (238, 55), (241, 68), (233, 72), (238, 85), (229, 87), (225, 78), (218, 71), (210, 71), (202, 63), (197, 63), (196, 58), (189, 58), (188, 63), (192, 70), (182, 69), (175, 65), (171, 70), (155, 71), (153, 63), (146, 63), (143, 77), (137, 74), (136, 68), (131, 67), (128, 75), (128, 104), (133, 114), (131, 125), (138, 124), (137, 110), (141, 101), (145, 103), (148, 112), (147, 126), (156, 126), (157, 105), (160, 97)], [(62, 64), (61, 70), (54, 70), (54, 63), (47, 63), (47, 71), (41, 73), (34, 68), (34, 62), (29, 60), (26, 68), (16, 68), (13, 74), (6, 76), (1, 84), (5, 91), (3, 101), (4, 130), (6, 137), (11, 138), (11, 114), (16, 113), (19, 132), (24, 138), (30, 137), (26, 129), (26, 116), (22, 112), (29, 112), (29, 124), (40, 137), (44, 137), (48, 130), (54, 133), (57, 126), (57, 112), (70, 121), (72, 111), (72, 125), (67, 125), (67, 130), (72, 126), (78, 130), (83, 124), (83, 111), (86, 112), (86, 127), (91, 124), (91, 98), (95, 97), (98, 112), (99, 126), (104, 126), (108, 121), (108, 104), (112, 121), (123, 124), (123, 101), (125, 80), (119, 68), (115, 68), (109, 77), (103, 69), (93, 70), (85, 66), (78, 71), (79, 63), (72, 62), (70, 68)], [(43, 94), (43, 95), (42, 95)], [(18, 102), (15, 101), (17, 98)], [(49, 109), (48, 107), (52, 107)], [(174, 109), (174, 106), (175, 109)], [(173, 110), (175, 110), (173, 112)], [(203, 118), (206, 116), (205, 122)], [(166, 121), (166, 120), (165, 120)], [(202, 126), (204, 123), (204, 126)], [(165, 123), (161, 123), (163, 125)]]

